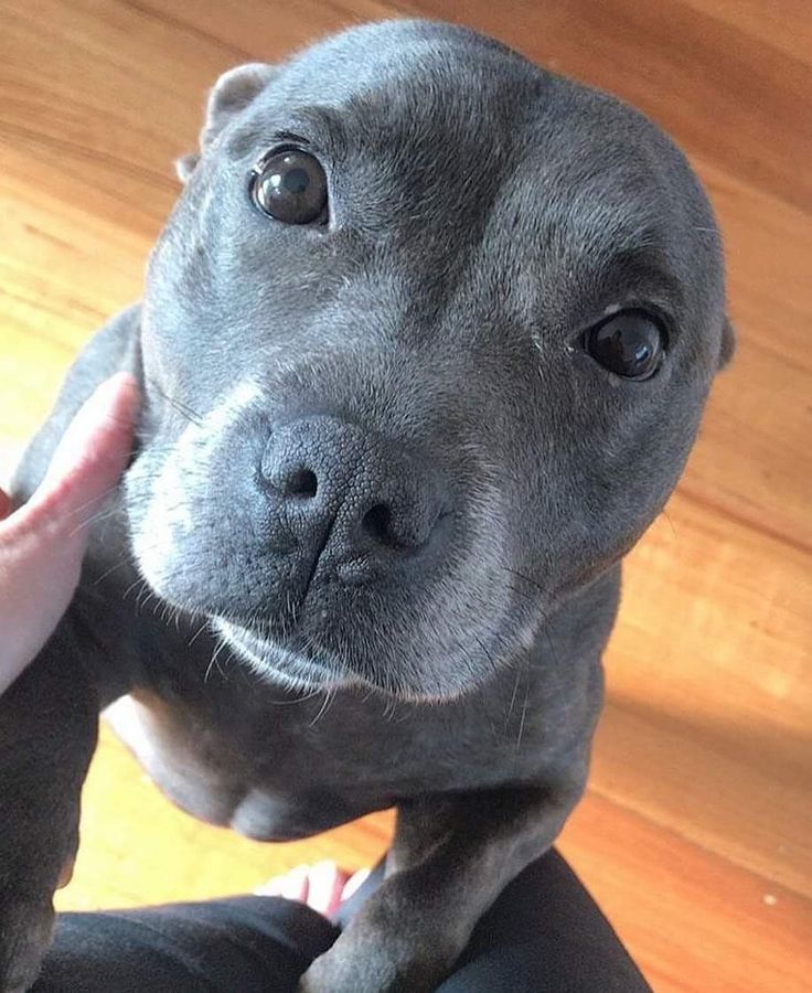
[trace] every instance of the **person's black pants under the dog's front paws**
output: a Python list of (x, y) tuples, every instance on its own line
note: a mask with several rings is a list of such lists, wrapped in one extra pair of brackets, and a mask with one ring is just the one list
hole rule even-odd
[[(378, 867), (342, 908), (342, 918), (381, 876)], [(33, 990), (287, 993), (339, 933), (339, 925), (278, 897), (63, 914)], [(637, 993), (649, 985), (575, 874), (551, 852), (506, 887), (438, 989)]]

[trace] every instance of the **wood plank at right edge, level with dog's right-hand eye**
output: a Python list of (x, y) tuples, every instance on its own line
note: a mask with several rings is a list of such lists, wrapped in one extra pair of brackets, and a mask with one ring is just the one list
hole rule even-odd
[(725, 237), (738, 351), (717, 377), (682, 491), (812, 548), (812, 216), (697, 161)]

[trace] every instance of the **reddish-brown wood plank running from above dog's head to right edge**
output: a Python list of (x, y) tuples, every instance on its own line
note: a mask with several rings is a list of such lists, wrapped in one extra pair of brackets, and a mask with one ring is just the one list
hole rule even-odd
[(400, 0), (470, 24), (556, 72), (616, 93), (688, 152), (803, 210), (812, 205), (812, 67), (680, 0)]

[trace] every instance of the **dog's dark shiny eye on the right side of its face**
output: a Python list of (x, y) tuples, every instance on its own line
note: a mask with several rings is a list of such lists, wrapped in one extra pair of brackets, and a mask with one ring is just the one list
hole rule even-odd
[(664, 332), (642, 310), (624, 310), (586, 333), (587, 352), (603, 369), (624, 380), (648, 380), (660, 367)]

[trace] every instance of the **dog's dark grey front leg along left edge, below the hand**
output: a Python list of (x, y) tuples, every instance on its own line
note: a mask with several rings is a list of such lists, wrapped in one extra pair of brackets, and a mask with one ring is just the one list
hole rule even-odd
[[(0, 644), (1, 648), (1, 644)], [(98, 702), (70, 619), (0, 696), (0, 991), (33, 982), (78, 844)]]

